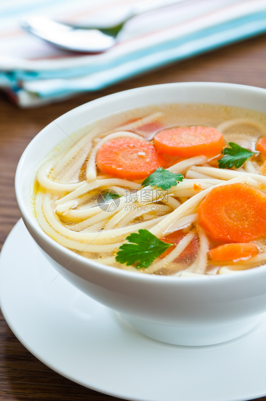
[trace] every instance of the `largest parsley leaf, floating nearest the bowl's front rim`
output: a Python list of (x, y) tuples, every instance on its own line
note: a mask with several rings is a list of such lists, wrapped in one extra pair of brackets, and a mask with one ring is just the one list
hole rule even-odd
[(172, 245), (161, 241), (148, 230), (139, 230), (138, 234), (132, 233), (126, 239), (131, 244), (121, 245), (115, 260), (127, 266), (138, 261), (136, 269), (149, 267), (154, 259)]

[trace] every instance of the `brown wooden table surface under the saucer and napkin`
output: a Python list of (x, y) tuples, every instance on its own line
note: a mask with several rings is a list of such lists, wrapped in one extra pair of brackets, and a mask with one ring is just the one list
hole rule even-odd
[[(61, 114), (97, 97), (145, 85), (182, 81), (230, 82), (266, 88), (266, 35), (175, 63), (97, 93), (85, 94), (36, 109), (18, 109), (3, 93), (0, 93), (1, 247), (20, 218), (14, 193), (16, 165), (28, 143), (44, 126)], [(118, 399), (82, 387), (46, 367), (17, 340), (1, 315), (0, 400), (115, 401)], [(266, 401), (266, 397), (258, 400)]]

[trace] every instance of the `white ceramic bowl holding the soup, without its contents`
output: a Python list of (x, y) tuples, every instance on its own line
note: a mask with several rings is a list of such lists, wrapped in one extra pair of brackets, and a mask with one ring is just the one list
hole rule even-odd
[(264, 112), (266, 90), (226, 83), (171, 83), (131, 89), (77, 107), (44, 128), (24, 151), (16, 172), (18, 205), (28, 231), (55, 269), (143, 334), (180, 345), (224, 342), (253, 328), (266, 312), (266, 266), (200, 278), (120, 270), (56, 243), (32, 214), (34, 171), (66, 133), (110, 113), (156, 103), (214, 103)]

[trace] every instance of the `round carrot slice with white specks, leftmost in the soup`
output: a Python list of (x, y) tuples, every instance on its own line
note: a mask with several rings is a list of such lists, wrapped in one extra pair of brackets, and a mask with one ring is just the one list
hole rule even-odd
[(101, 146), (97, 164), (105, 174), (140, 180), (158, 167), (165, 166), (165, 160), (150, 142), (137, 138), (117, 138)]

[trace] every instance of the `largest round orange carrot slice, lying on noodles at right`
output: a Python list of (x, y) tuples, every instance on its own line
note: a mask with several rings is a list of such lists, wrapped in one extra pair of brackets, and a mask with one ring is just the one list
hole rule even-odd
[(213, 188), (197, 210), (198, 223), (221, 242), (249, 242), (266, 235), (266, 195), (237, 183)]

